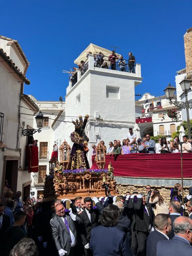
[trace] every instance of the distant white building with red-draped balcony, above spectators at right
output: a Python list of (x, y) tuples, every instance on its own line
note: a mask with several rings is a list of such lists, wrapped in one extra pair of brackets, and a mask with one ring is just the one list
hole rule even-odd
[[(173, 101), (175, 100), (176, 96), (173, 98)], [(170, 105), (165, 95), (155, 97), (145, 93), (139, 100), (136, 100), (136, 105), (140, 105), (143, 108), (140, 112), (141, 114), (136, 116), (136, 123), (139, 125), (141, 137), (150, 134), (151, 136), (166, 136), (169, 139), (182, 121), (182, 118), (179, 118), (178, 122), (173, 122), (167, 115), (163, 119), (163, 113), (171, 108), (176, 109), (181, 115), (181, 109), (173, 104)]]

